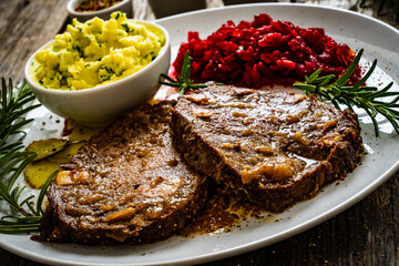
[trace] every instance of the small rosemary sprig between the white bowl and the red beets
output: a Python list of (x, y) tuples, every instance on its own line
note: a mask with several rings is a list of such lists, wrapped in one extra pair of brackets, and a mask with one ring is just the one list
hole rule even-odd
[[(178, 92), (181, 94), (185, 94), (187, 91), (193, 91), (198, 88), (207, 88), (206, 84), (194, 84), (194, 81), (190, 79), (191, 65), (192, 65), (191, 57), (187, 50), (184, 57), (181, 76), (180, 78), (176, 76), (176, 80), (174, 80), (167, 74), (161, 73), (158, 82), (164, 85), (178, 88)], [(164, 80), (162, 80), (162, 78)], [(166, 82), (166, 80), (168, 82)]]

